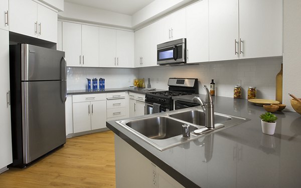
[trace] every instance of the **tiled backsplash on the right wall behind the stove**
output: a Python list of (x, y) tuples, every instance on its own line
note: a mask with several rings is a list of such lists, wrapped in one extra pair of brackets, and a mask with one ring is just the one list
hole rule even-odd
[[(223, 61), (184, 66), (158, 66), (139, 68), (139, 77), (150, 78), (152, 87), (168, 89), (169, 78), (198, 78), (199, 92), (205, 94), (203, 85), (211, 79), (216, 84), (216, 95), (233, 97), (237, 80), (241, 80), (242, 98), (246, 98), (248, 86), (257, 87), (257, 98), (275, 100), (275, 79), (281, 69), (282, 58)], [(157, 83), (159, 79), (159, 83)], [(147, 81), (145, 83), (147, 85)]]

